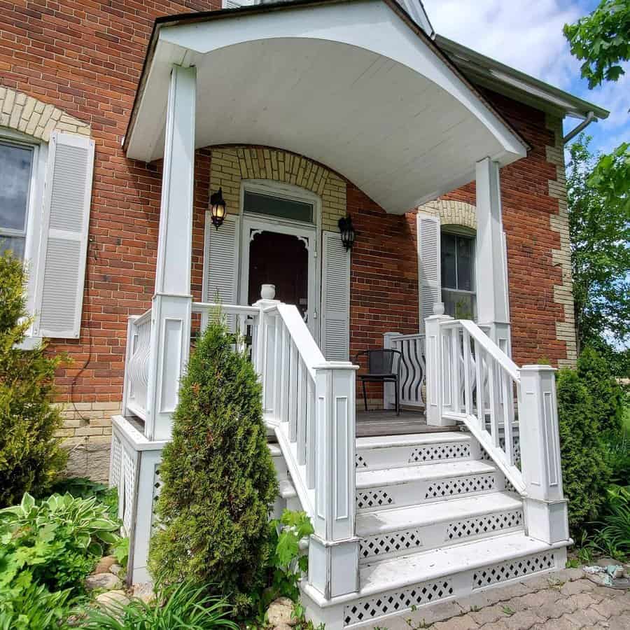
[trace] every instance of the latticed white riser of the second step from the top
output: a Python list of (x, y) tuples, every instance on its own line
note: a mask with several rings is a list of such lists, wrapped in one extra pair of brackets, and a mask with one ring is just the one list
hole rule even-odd
[(500, 472), (481, 475), (418, 479), (407, 483), (357, 489), (357, 512), (373, 512), (386, 507), (434, 503), (448, 498), (503, 491), (505, 477)]

